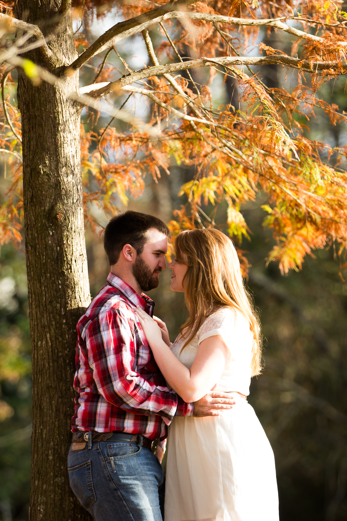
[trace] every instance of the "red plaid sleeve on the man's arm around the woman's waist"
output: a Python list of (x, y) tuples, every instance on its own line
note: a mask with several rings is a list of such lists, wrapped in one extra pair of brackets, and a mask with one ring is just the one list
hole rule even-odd
[(133, 370), (136, 349), (132, 328), (119, 309), (99, 315), (86, 337), (93, 379), (105, 400), (133, 414), (158, 414), (169, 425), (175, 414), (191, 416), (193, 405), (167, 387), (155, 386)]

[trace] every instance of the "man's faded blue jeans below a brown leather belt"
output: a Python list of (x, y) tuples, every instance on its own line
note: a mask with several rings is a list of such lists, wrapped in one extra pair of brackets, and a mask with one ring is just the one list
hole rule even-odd
[(93, 443), (68, 456), (71, 488), (97, 521), (162, 521), (165, 478), (155, 454), (125, 441)]

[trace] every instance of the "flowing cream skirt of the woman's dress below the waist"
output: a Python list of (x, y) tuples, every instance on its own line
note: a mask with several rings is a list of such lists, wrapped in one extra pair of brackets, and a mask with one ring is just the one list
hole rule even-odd
[(274, 453), (246, 401), (221, 416), (174, 417), (165, 521), (278, 521)]

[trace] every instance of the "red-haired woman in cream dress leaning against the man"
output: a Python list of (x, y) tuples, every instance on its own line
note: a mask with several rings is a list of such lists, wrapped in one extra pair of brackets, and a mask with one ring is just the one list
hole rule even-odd
[[(168, 386), (186, 402), (210, 389), (249, 394), (261, 370), (260, 327), (232, 241), (219, 230), (175, 240), (171, 289), (189, 318), (170, 344), (164, 322), (138, 308)], [(274, 454), (253, 408), (240, 398), (221, 416), (174, 417), (169, 429), (165, 521), (278, 521)]]

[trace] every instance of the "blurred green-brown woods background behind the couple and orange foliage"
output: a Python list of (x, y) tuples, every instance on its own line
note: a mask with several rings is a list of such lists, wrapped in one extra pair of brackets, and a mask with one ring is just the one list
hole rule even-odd
[[(112, 18), (113, 16), (113, 18)], [(81, 31), (95, 39), (113, 25), (114, 14), (100, 22), (85, 19)], [(107, 22), (107, 26), (105, 23)], [(87, 29), (87, 30), (86, 30)], [(152, 35), (156, 39), (156, 35)], [(289, 38), (274, 45), (288, 49)], [(263, 33), (260, 38), (279, 39), (279, 35)], [(132, 61), (135, 52), (137, 58)], [(133, 68), (148, 61), (143, 42), (136, 37), (118, 49)], [(117, 56), (110, 54), (110, 68), (117, 66)], [(140, 57), (140, 59), (138, 58)], [(137, 60), (137, 61), (136, 61)], [(93, 81), (100, 58), (93, 67), (85, 68), (83, 84)], [(194, 71), (195, 80), (205, 81), (204, 71)], [(115, 77), (118, 72), (114, 72)], [(285, 71), (270, 66), (261, 71), (269, 86), (281, 86)], [(238, 105), (235, 86), (217, 76), (211, 85), (215, 105)], [(323, 86), (327, 101), (347, 109), (344, 92), (346, 78)], [(294, 80), (290, 80), (293, 81)], [(15, 92), (14, 92), (15, 94)], [(115, 103), (120, 106), (123, 100)], [(130, 105), (129, 105), (130, 106)], [(240, 102), (242, 108), (242, 102)], [(148, 117), (148, 110), (139, 102)], [(91, 130), (93, 118), (83, 114), (85, 130)], [(104, 128), (109, 118), (102, 114), (94, 130)], [(305, 122), (304, 119), (302, 122)], [(307, 124), (307, 122), (305, 122)], [(120, 130), (124, 123), (113, 122)], [(310, 122), (311, 138), (332, 146), (345, 143), (345, 126), (332, 127), (327, 116), (317, 109)], [(4, 158), (3, 158), (4, 160)], [(333, 160), (333, 157), (330, 159)], [(0, 166), (4, 169), (4, 163)], [(157, 215), (165, 222), (172, 211), (185, 204), (178, 197), (179, 187), (194, 175), (192, 167), (173, 165), (156, 183), (146, 177), (142, 197), (130, 200), (128, 208)], [(5, 176), (4, 176), (5, 177)], [(10, 180), (0, 179), (0, 197), (4, 200)], [(90, 189), (93, 190), (91, 177)], [(251, 264), (246, 281), (261, 315), (265, 369), (253, 378), (249, 402), (254, 407), (275, 452), (281, 521), (343, 521), (347, 518), (347, 283), (339, 277), (339, 260), (334, 245), (307, 257), (299, 272), (282, 277), (278, 267), (265, 265), (272, 247), (271, 233), (264, 230), (266, 201), (261, 193), (255, 202), (241, 210), (251, 229), (251, 242), (243, 242)], [(119, 208), (124, 207), (120, 204)], [(204, 208), (208, 214), (211, 208)], [(93, 209), (100, 224), (107, 216)], [(225, 229), (225, 208), (219, 207), (216, 222)], [(102, 244), (86, 230), (87, 256), (91, 294), (94, 296), (106, 282), (108, 265)], [(156, 314), (168, 325), (171, 340), (183, 322), (183, 295), (170, 290), (170, 270), (160, 277), (160, 286), (150, 293), (157, 304)], [(0, 250), (0, 518), (4, 521), (28, 519), (31, 456), (31, 363), (28, 318), (27, 281), (24, 244), (21, 250), (5, 245)], [(72, 382), (71, 382), (72, 384)], [(71, 411), (72, 414), (72, 411)], [(254, 520), (256, 521), (256, 520)]]

